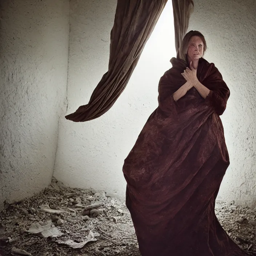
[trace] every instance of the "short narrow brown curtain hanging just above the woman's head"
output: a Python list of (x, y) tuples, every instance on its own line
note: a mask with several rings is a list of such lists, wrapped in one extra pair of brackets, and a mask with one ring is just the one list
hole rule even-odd
[(175, 48), (177, 57), (179, 56), (179, 48), (183, 37), (187, 33), (188, 22), (194, 9), (192, 0), (172, 0), (173, 21), (175, 33)]

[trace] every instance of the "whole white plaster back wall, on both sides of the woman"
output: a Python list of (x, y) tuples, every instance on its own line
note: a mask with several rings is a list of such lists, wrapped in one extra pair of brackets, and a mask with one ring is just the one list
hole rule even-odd
[[(105, 115), (85, 123), (61, 117), (54, 175), (65, 184), (104, 189), (124, 197), (123, 160), (157, 106), (159, 78), (170, 67), (169, 59), (175, 56), (170, 3), (115, 105)], [(107, 71), (116, 1), (71, 0), (70, 7), (67, 113), (88, 103)], [(250, 206), (256, 203), (255, 10), (253, 0), (195, 0), (190, 23), (190, 29), (205, 35), (205, 58), (216, 64), (231, 89), (222, 116), (231, 165), (219, 199)]]

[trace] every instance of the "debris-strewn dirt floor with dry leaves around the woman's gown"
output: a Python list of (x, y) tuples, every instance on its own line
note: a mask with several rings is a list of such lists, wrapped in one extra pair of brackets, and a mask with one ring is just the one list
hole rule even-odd
[[(228, 235), (256, 255), (256, 209), (216, 202)], [(0, 256), (140, 256), (124, 202), (102, 191), (65, 188), (56, 180), (0, 212)]]

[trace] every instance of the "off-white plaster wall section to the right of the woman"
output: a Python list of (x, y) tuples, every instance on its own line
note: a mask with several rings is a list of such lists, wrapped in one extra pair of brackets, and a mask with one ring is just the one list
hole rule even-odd
[(205, 35), (205, 59), (215, 63), (231, 90), (221, 117), (231, 164), (219, 199), (255, 207), (256, 1), (194, 2), (189, 28)]

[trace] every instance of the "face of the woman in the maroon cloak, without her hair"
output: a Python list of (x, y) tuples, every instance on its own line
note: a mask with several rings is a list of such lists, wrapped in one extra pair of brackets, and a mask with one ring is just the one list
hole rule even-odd
[(203, 57), (204, 44), (199, 36), (192, 36), (188, 44), (188, 60), (193, 61)]

